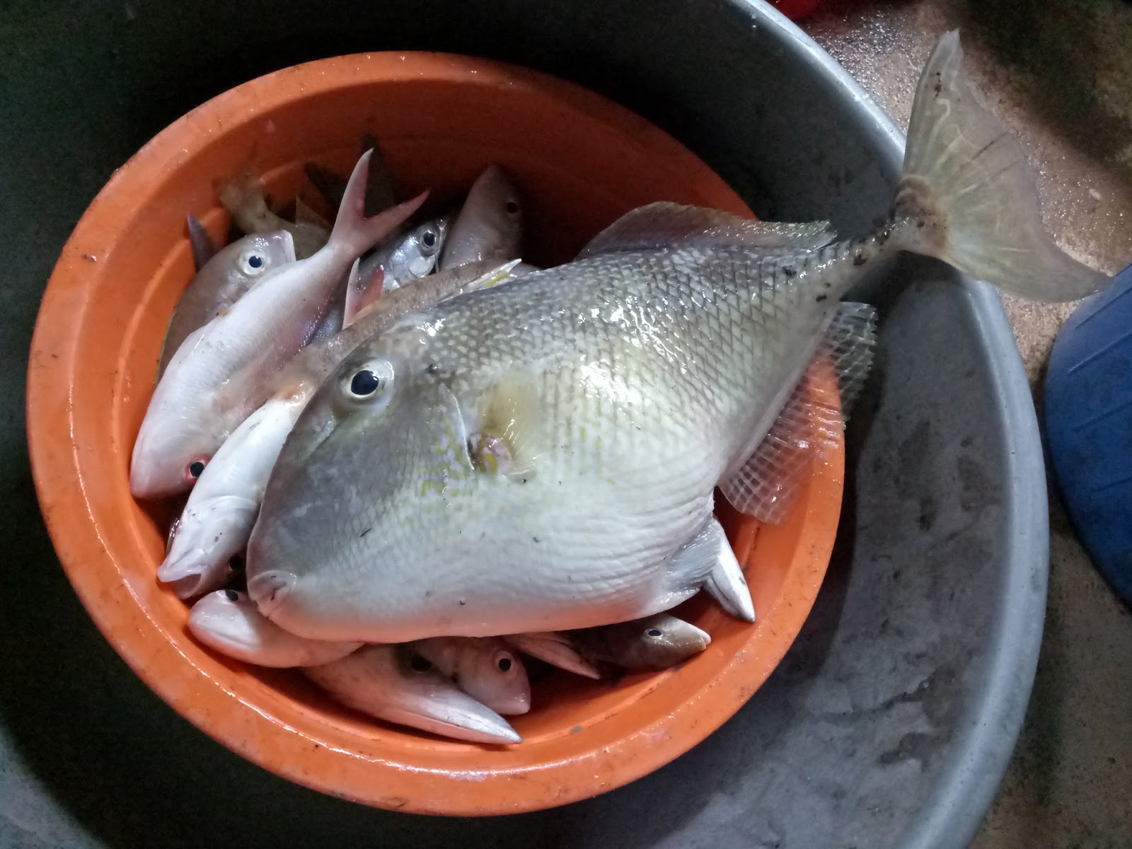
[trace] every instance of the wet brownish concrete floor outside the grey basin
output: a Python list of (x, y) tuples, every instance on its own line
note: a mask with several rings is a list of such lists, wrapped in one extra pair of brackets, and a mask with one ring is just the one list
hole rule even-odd
[[(960, 27), (976, 93), (1022, 139), (1058, 243), (1132, 261), (1132, 5), (827, 0), (804, 28), (901, 126), (937, 34)], [(1074, 305), (1005, 299), (1041, 411)], [(1094, 569), (1050, 482), (1049, 597), (1026, 726), (974, 846), (1132, 847), (1132, 614)]]

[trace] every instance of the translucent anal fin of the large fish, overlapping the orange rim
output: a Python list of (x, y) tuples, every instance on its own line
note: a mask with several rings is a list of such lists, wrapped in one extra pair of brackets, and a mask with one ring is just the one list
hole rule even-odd
[[(825, 340), (766, 437), (746, 463), (720, 482), (731, 505), (749, 516), (777, 524), (786, 518), (815, 462), (840, 441), (852, 403), (873, 365), (876, 345), (876, 308), (841, 303)], [(812, 392), (812, 381), (832, 362), (838, 377), (840, 408), (825, 404)], [(843, 411), (843, 412), (842, 412)]]

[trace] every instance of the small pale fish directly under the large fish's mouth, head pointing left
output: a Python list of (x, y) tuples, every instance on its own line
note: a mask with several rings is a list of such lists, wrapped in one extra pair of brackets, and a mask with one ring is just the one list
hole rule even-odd
[(235, 590), (217, 590), (197, 601), (189, 610), (189, 632), (221, 654), (260, 667), (328, 663), (361, 645), (289, 634), (265, 619), (248, 597)]

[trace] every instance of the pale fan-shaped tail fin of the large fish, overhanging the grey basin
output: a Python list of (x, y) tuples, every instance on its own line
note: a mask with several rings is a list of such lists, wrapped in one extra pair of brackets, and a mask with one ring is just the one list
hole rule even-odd
[(1021, 146), (971, 95), (959, 32), (946, 33), (916, 88), (893, 235), (997, 289), (1070, 301), (1109, 278), (1046, 233)]

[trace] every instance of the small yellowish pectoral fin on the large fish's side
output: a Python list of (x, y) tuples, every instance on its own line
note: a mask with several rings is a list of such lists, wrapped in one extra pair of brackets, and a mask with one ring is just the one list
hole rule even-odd
[(486, 474), (526, 481), (538, 463), (542, 406), (526, 375), (500, 378), (484, 393), (479, 427), (470, 428), (468, 452)]

